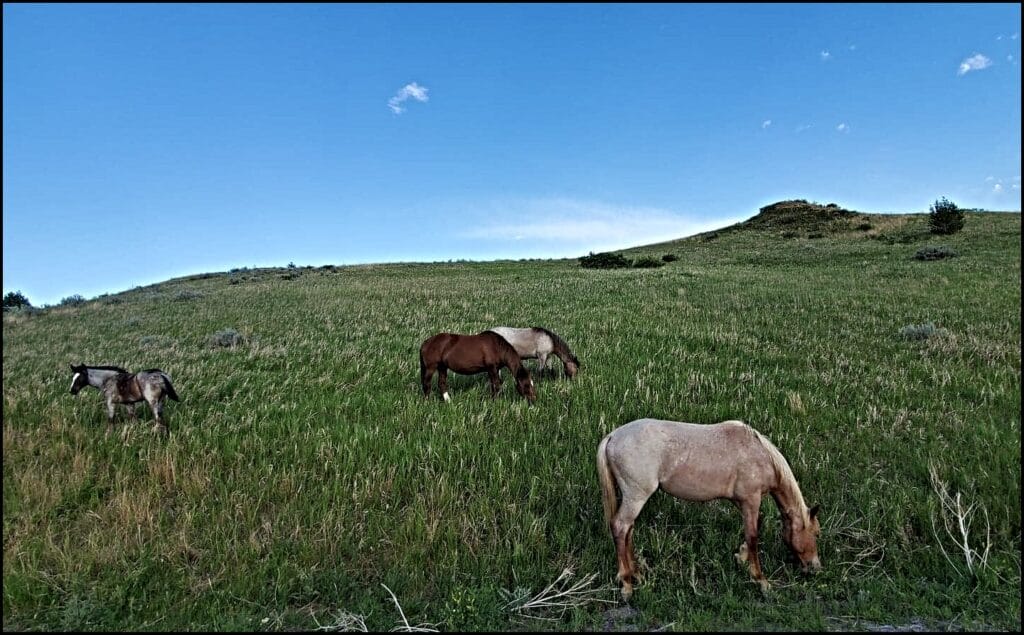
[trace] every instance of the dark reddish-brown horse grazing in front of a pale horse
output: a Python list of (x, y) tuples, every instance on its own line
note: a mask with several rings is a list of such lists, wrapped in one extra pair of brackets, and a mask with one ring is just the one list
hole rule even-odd
[(447, 372), (452, 370), (461, 375), (485, 372), (490, 377), (490, 396), (497, 397), (502, 383), (499, 375), (502, 367), (512, 372), (516, 390), (532, 404), (537, 398), (537, 392), (534, 390), (534, 380), (529, 377), (529, 371), (522, 365), (515, 348), (497, 333), (489, 331), (477, 335), (438, 333), (420, 346), (420, 382), (423, 384), (423, 396), (430, 395), (430, 380), (434, 371), (437, 371), (437, 390), (445, 401), (450, 400)]

